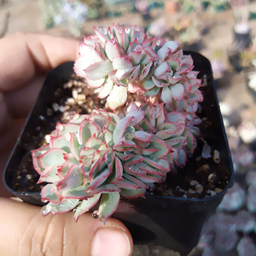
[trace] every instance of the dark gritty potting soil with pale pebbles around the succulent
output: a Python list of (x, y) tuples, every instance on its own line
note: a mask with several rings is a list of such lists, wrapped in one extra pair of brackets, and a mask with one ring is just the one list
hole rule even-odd
[[(205, 84), (212, 85), (210, 76), (205, 76), (204, 79)], [(169, 172), (166, 182), (156, 184), (154, 189), (147, 191), (147, 194), (201, 199), (218, 194), (229, 183), (230, 170), (223, 166), (222, 155), (220, 154), (218, 159), (218, 150), (211, 146), (214, 145), (216, 137), (211, 133), (214, 119), (206, 114), (206, 108), (212, 107), (211, 104), (207, 104), (207, 94), (210, 93), (208, 87), (202, 87), (205, 101), (200, 104), (197, 113), (202, 123), (199, 125), (201, 137), (197, 138), (198, 146), (195, 153), (189, 157), (184, 168), (175, 168)], [(9, 181), (10, 188), (17, 192), (39, 192), (44, 187), (45, 183), (37, 184), (39, 175), (32, 166), (31, 150), (47, 143), (49, 133), (55, 130), (57, 122), (67, 123), (73, 112), (91, 113), (95, 107), (105, 106), (105, 100), (97, 98), (93, 90), (84, 86), (83, 80), (75, 76), (66, 83), (60, 81), (58, 88), (55, 94), (49, 97), (47, 108), (34, 120), (34, 130), (23, 134), (22, 146), (25, 156)], [(139, 99), (133, 96), (130, 100)], [(201, 156), (205, 144), (202, 139), (211, 147), (211, 156), (207, 159)]]

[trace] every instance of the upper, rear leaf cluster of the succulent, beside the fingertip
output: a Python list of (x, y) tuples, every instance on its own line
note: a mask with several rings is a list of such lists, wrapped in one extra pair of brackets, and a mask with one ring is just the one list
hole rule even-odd
[(193, 60), (179, 43), (149, 37), (137, 26), (98, 26), (95, 32), (80, 44), (74, 70), (100, 98), (107, 97), (112, 110), (125, 104), (127, 91), (145, 102), (158, 96), (174, 108), (179, 102), (201, 102)]

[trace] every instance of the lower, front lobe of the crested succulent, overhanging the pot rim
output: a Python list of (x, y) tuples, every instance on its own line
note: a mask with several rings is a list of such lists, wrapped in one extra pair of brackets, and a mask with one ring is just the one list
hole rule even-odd
[(172, 165), (185, 161), (182, 136), (185, 125), (172, 122), (164, 102), (142, 109), (132, 102), (123, 119), (95, 110), (75, 113), (58, 123), (49, 144), (32, 150), (40, 178), (43, 215), (68, 212), (74, 217), (99, 201), (97, 215), (105, 222), (119, 204), (120, 195), (144, 197), (147, 188), (166, 179)]

